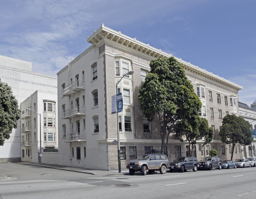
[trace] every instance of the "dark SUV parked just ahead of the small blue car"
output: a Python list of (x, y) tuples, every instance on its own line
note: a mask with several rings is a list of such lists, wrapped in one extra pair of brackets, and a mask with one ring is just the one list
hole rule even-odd
[(212, 168), (222, 169), (222, 161), (221, 158), (218, 156), (213, 157), (204, 157), (201, 161), (199, 161), (199, 168), (198, 169), (208, 169), (211, 170)]

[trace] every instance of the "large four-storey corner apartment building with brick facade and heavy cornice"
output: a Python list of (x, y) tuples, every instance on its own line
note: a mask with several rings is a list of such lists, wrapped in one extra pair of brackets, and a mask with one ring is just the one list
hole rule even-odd
[[(121, 167), (129, 160), (161, 148), (157, 121), (148, 122), (140, 111), (138, 89), (150, 71), (149, 63), (172, 55), (149, 44), (128, 37), (120, 31), (102, 26), (87, 37), (92, 45), (69, 64), (58, 76), (59, 165), (115, 170), (118, 168), (117, 123), (120, 135)], [(210, 149), (222, 159), (230, 159), (228, 145), (221, 143), (219, 129), (226, 114), (238, 115), (238, 91), (241, 86), (198, 66), (176, 58), (184, 67), (189, 81), (202, 101), (201, 117), (214, 129), (210, 144), (198, 141), (194, 155), (200, 160)], [(128, 71), (133, 75), (125, 75)], [(118, 85), (116, 85), (118, 83)], [(122, 93), (123, 109), (111, 114), (111, 97)], [(118, 120), (118, 121), (117, 121)], [(170, 135), (165, 153), (169, 160), (186, 156), (188, 143)], [(237, 144), (234, 158), (240, 158)]]

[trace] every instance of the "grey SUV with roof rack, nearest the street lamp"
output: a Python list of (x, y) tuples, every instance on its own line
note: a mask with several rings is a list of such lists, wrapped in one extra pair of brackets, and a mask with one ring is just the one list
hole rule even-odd
[(161, 174), (165, 174), (169, 167), (169, 160), (165, 154), (158, 152), (159, 150), (154, 150), (152, 154), (145, 154), (137, 160), (128, 162), (126, 168), (129, 169), (130, 175), (134, 175), (136, 171), (141, 171), (142, 175), (147, 175), (147, 170), (149, 173), (155, 173), (156, 170), (159, 170)]

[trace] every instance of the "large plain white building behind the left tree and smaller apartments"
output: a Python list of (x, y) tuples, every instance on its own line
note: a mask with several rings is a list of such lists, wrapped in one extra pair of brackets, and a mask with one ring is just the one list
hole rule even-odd
[[(36, 90), (57, 93), (57, 77), (32, 72), (32, 63), (0, 55), (0, 81), (7, 83), (19, 105)], [(20, 120), (0, 146), (0, 161), (20, 161)]]

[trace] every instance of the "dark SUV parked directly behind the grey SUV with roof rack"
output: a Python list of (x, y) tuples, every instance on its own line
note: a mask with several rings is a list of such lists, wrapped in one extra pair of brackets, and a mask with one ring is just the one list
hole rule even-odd
[(179, 170), (180, 172), (184, 172), (187, 169), (193, 169), (193, 171), (197, 171), (199, 167), (199, 162), (196, 157), (180, 157), (176, 158), (174, 162), (170, 163), (170, 171)]

